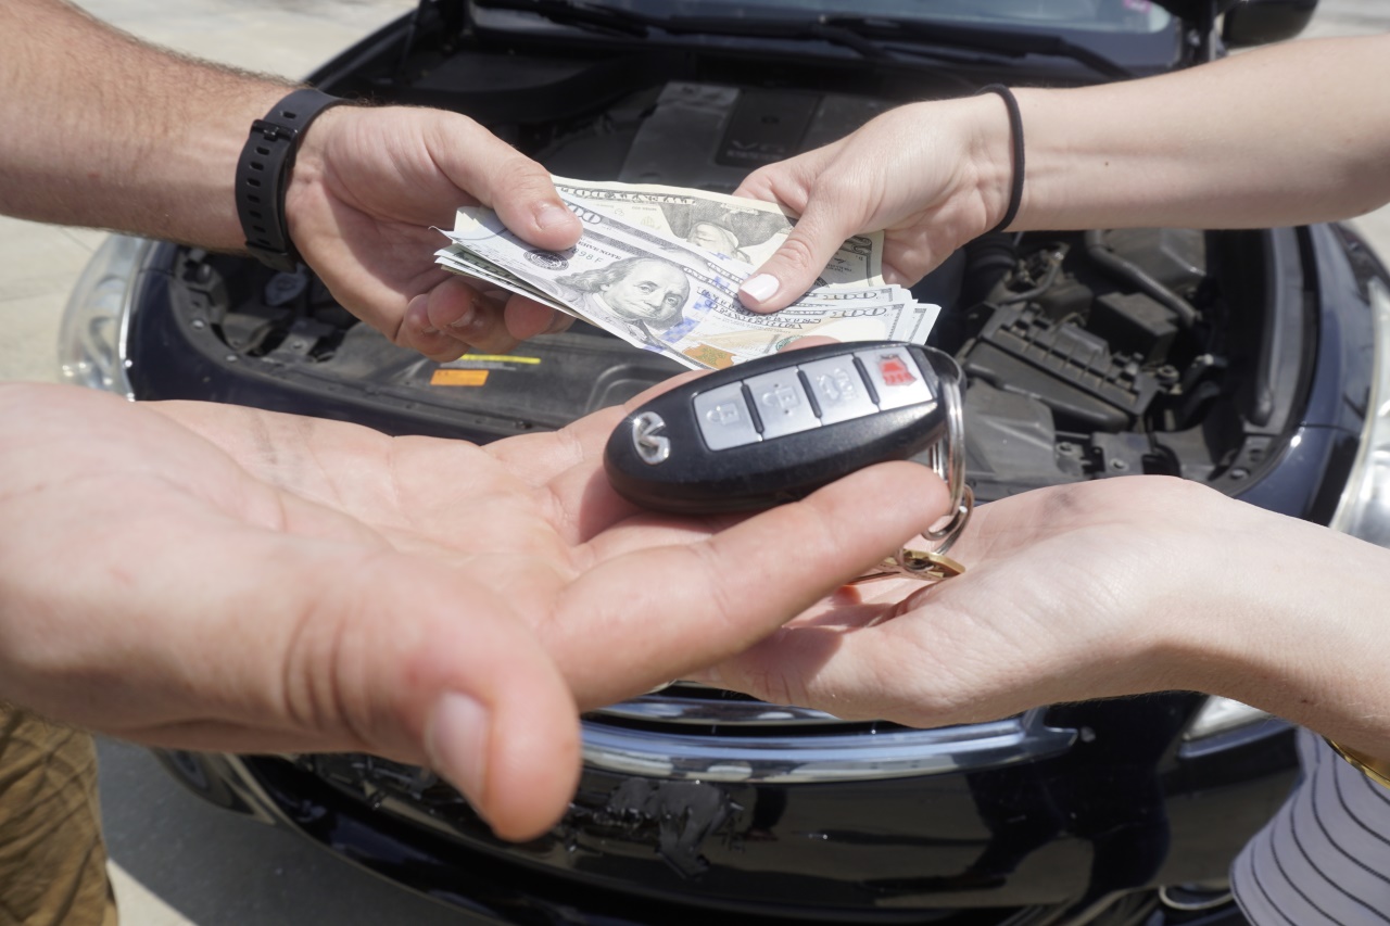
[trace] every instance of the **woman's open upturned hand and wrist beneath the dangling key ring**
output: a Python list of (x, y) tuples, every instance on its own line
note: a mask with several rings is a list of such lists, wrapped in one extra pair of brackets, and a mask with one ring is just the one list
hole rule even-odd
[(963, 576), (845, 590), (699, 677), (913, 727), (1194, 690), (1390, 755), (1390, 551), (1143, 476), (983, 505), (951, 556)]

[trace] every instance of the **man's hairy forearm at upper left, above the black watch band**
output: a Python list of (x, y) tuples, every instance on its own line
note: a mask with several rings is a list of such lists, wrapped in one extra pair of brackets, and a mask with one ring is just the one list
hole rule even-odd
[(288, 89), (146, 46), (57, 0), (7, 0), (0, 213), (239, 249), (236, 159)]

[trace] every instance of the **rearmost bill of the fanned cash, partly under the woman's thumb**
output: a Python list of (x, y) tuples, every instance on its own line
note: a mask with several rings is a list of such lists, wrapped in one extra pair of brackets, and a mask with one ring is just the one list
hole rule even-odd
[[(655, 184), (550, 179), (570, 200), (753, 267), (771, 257), (796, 224), (781, 207), (756, 199)], [(881, 286), (883, 232), (845, 241), (817, 285)]]

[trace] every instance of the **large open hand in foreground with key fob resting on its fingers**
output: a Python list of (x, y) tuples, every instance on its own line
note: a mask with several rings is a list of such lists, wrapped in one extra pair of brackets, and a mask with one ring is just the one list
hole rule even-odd
[(577, 710), (731, 656), (947, 506), (891, 463), (748, 519), (645, 513), (602, 471), (620, 416), (478, 448), (0, 387), (0, 698), (146, 744), (430, 763), (534, 836), (575, 786)]

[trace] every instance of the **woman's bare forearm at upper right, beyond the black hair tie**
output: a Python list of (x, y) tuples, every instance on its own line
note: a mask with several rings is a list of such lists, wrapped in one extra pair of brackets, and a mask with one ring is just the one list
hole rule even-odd
[[(1390, 202), (1390, 36), (1308, 40), (1104, 86), (1019, 89), (1023, 202), (1012, 228), (1243, 228)], [(1008, 157), (1008, 135), (997, 159)], [(994, 103), (997, 107), (998, 104)]]

